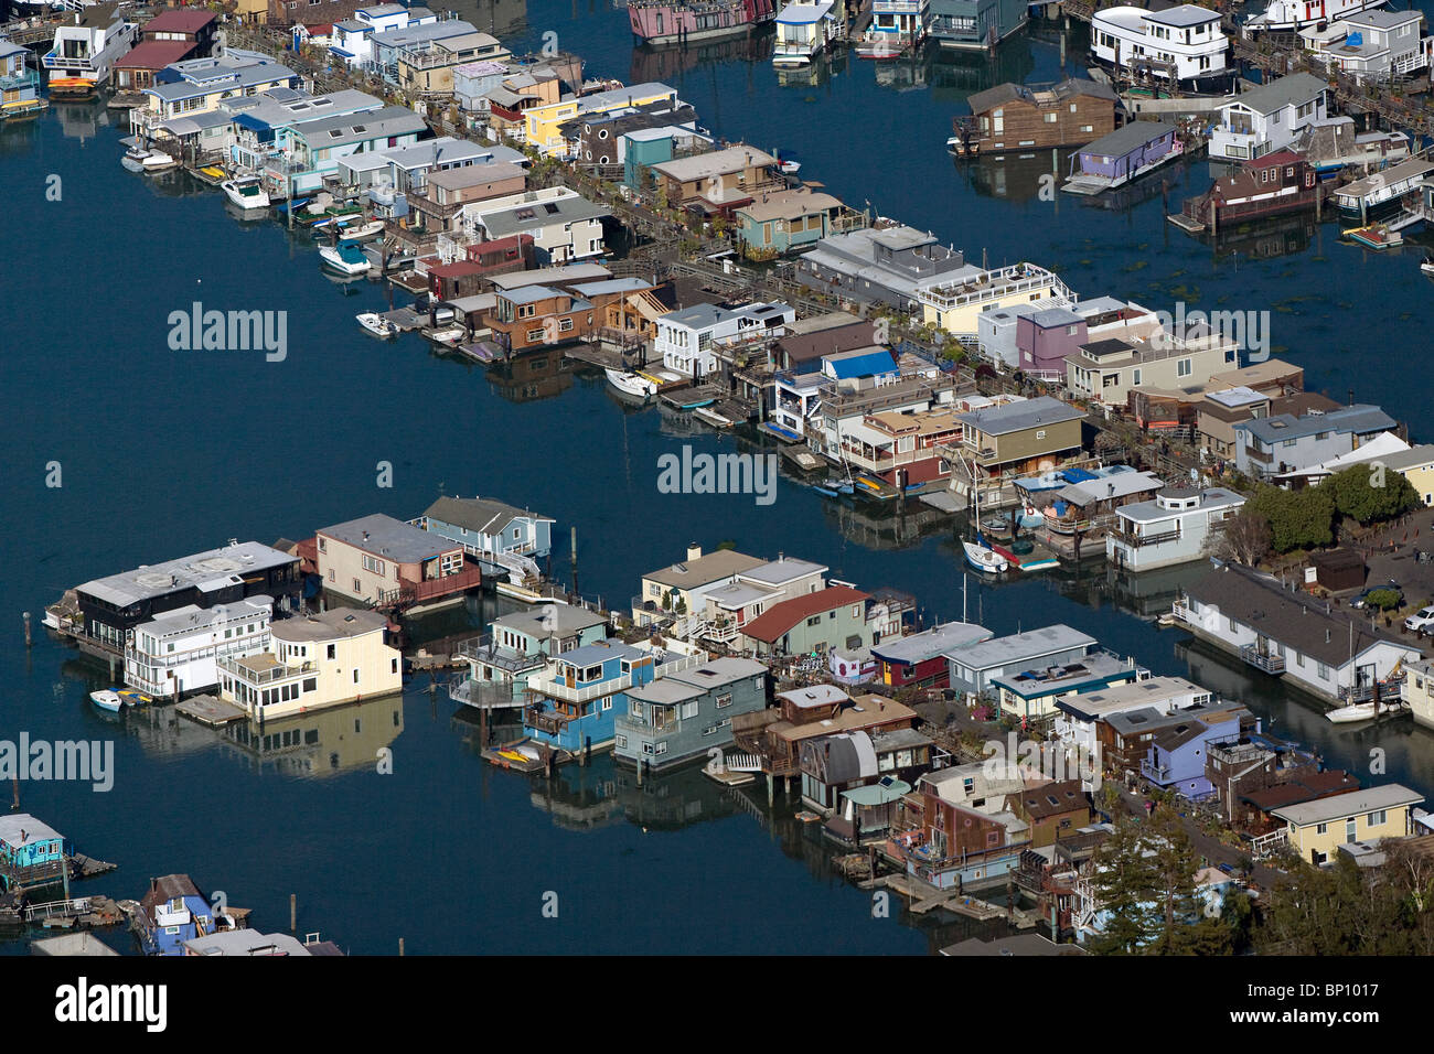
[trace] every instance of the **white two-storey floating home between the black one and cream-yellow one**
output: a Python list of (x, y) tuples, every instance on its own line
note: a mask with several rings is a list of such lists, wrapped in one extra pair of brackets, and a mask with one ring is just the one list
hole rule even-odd
[(125, 684), (178, 698), (219, 683), (219, 660), (268, 651), (274, 601), (264, 595), (199, 608), (189, 604), (136, 625), (125, 642)]

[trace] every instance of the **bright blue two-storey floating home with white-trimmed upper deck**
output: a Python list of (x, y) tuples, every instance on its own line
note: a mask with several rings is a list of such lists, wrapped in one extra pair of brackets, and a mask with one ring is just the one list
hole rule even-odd
[(609, 747), (617, 716), (630, 707), (628, 688), (687, 670), (706, 657), (614, 638), (562, 652), (541, 674), (528, 677), (533, 701), (523, 708), (523, 731), (571, 753)]

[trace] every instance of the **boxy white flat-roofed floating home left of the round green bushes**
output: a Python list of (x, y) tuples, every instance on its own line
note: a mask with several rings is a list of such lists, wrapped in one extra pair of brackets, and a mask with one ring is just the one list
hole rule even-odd
[(1154, 500), (1121, 505), (1106, 535), (1106, 559), (1126, 571), (1150, 571), (1206, 556), (1210, 532), (1239, 512), (1245, 498), (1212, 486), (1167, 489)]

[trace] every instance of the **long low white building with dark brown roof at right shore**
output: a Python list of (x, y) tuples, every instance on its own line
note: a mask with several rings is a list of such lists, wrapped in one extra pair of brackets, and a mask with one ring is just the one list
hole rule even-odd
[(1390, 675), (1420, 658), (1418, 648), (1385, 635), (1349, 614), (1286, 589), (1279, 581), (1238, 565), (1222, 565), (1184, 588), (1174, 615), (1190, 631), (1233, 651), (1256, 670), (1329, 703), (1400, 697)]

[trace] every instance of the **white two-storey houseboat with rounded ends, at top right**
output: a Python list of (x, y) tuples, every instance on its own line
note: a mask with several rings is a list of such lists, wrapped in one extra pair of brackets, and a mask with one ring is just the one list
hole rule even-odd
[(1116, 79), (1173, 83), (1195, 93), (1225, 95), (1235, 85), (1230, 40), (1220, 16), (1180, 4), (1163, 11), (1107, 7), (1090, 20), (1090, 56)]

